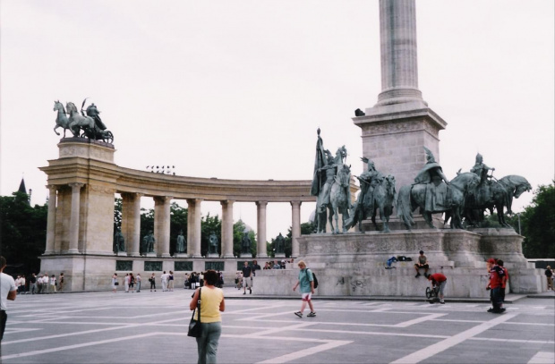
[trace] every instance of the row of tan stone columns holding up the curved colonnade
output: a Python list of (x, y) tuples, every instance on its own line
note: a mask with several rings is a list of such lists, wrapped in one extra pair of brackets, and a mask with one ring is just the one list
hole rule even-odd
[[(80, 217), (82, 212), (81, 190), (85, 183), (72, 182), (65, 186), (48, 185), (49, 199), (48, 199), (48, 218), (47, 218), (47, 247), (45, 254), (80, 254), (85, 251), (80, 247), (86, 244), (80, 244)], [(66, 187), (67, 186), (67, 187)], [(62, 214), (59, 209), (64, 209), (64, 204), (67, 193), (67, 188), (71, 188), (71, 205), (69, 214), (64, 211)], [(58, 192), (58, 193), (56, 193)], [(143, 193), (139, 192), (122, 192), (122, 233), (125, 239), (126, 254), (132, 257), (140, 256), (141, 250), (141, 198), (145, 198)], [(160, 258), (170, 257), (170, 205), (174, 199), (172, 196), (155, 196), (154, 200), (154, 238), (155, 255)], [(187, 217), (187, 258), (202, 258), (201, 256), (201, 205), (204, 199), (185, 199), (188, 205)], [(221, 214), (221, 252), (220, 258), (235, 258), (233, 252), (233, 209), (235, 200), (221, 200), (219, 201), (222, 207)], [(268, 258), (266, 249), (266, 226), (267, 226), (267, 207), (268, 201), (255, 201), (257, 207), (257, 258)], [(299, 246), (296, 240), (301, 236), (301, 204), (302, 201), (290, 201), (291, 224), (292, 224), (292, 256), (297, 257), (299, 254)], [(56, 208), (57, 206), (57, 208)], [(57, 212), (56, 212), (57, 211)], [(56, 215), (70, 216), (69, 228), (65, 234), (68, 237), (67, 244), (55, 245), (55, 232), (56, 232)], [(85, 214), (86, 215), (86, 214)], [(60, 229), (58, 229), (60, 230)], [(82, 230), (82, 229), (81, 229)], [(59, 235), (59, 234), (58, 234)], [(113, 236), (113, 234), (112, 234)], [(67, 249), (64, 249), (67, 248)]]

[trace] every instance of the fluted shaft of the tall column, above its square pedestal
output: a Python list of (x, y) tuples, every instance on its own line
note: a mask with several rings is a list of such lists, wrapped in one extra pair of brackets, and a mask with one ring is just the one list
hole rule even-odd
[(380, 0), (380, 51), (377, 105), (423, 101), (418, 89), (414, 0)]

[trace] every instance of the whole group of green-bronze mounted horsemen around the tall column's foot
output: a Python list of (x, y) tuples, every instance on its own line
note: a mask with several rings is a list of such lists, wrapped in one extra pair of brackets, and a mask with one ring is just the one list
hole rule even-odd
[[(470, 172), (461, 173), (459, 170), (457, 176), (449, 181), (431, 150), (424, 147), (424, 152), (426, 164), (414, 178), (414, 183), (402, 186), (398, 194), (395, 176), (381, 174), (370, 159), (362, 157), (367, 170), (360, 176), (354, 176), (360, 182), (360, 193), (351, 203), (351, 171), (350, 165), (345, 164), (346, 148), (338, 148), (333, 157), (329, 150), (324, 149), (319, 129), (311, 188), (312, 196), (317, 197), (317, 233), (326, 233), (327, 219), (332, 233), (346, 233), (356, 223), (359, 231), (364, 233), (363, 221), (368, 218), (378, 230), (378, 213), (383, 232), (389, 233), (388, 220), (394, 207), (407, 230), (414, 225), (413, 212), (418, 207), (431, 228), (435, 228), (432, 214), (444, 213), (444, 224), (463, 229), (465, 226), (479, 226), (484, 221), (484, 212), (489, 210), (493, 214), (494, 209), (497, 210), (499, 224), (510, 227), (505, 220), (505, 209), (512, 214), (513, 199), (532, 190), (530, 183), (522, 176), (495, 178), (492, 174), (495, 168), (485, 165), (480, 154), (476, 156)], [(338, 225), (339, 214), (343, 219), (342, 229)]]

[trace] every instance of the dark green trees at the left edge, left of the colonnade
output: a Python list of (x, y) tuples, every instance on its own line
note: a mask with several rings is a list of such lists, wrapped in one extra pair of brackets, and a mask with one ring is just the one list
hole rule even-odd
[(29, 195), (14, 192), (0, 197), (0, 255), (8, 261), (6, 274), (38, 273), (47, 241), (48, 205), (30, 207)]

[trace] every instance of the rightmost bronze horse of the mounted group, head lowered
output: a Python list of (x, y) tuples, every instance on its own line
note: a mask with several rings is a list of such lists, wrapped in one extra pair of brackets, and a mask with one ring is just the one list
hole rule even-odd
[[(480, 190), (471, 190), (468, 194), (463, 213), (466, 223), (480, 224), (483, 221), (484, 210), (489, 209), (490, 214), (493, 215), (493, 208), (495, 208), (499, 224), (505, 227), (511, 227), (505, 220), (505, 207), (507, 207), (507, 213), (511, 215), (513, 198), (518, 199), (525, 191), (532, 190), (525, 177), (519, 175), (508, 175), (489, 184), (483, 184), (479, 188), (488, 191), (481, 193)], [(489, 199), (485, 200), (483, 196), (488, 196)]]

